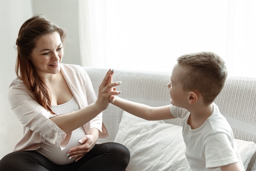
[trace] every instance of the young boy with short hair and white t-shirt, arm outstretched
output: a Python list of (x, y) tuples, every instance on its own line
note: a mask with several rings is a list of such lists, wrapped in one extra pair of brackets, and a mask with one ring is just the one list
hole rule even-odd
[(110, 103), (146, 120), (181, 118), (193, 171), (244, 171), (232, 129), (213, 102), (226, 78), (225, 62), (215, 53), (185, 54), (177, 59), (167, 85), (170, 105), (149, 107), (117, 96)]

